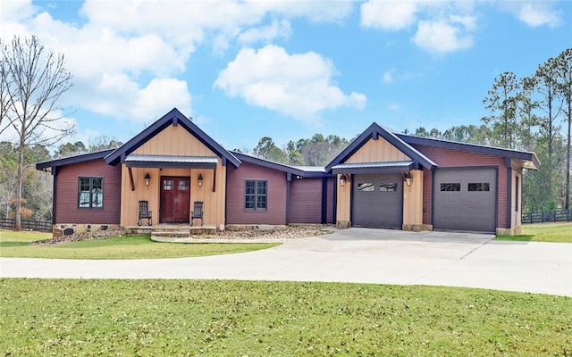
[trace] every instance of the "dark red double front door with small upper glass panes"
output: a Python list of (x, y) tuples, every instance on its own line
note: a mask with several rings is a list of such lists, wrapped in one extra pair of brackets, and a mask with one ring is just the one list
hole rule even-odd
[(189, 223), (190, 178), (161, 178), (161, 223)]

